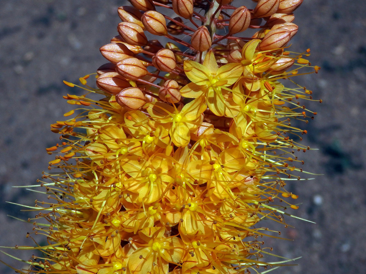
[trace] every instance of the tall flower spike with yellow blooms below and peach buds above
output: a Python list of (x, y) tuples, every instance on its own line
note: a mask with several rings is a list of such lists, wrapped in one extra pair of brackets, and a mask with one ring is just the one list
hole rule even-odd
[(100, 48), (109, 62), (97, 70), (98, 89), (80, 78), (101, 99), (64, 96), (76, 116), (51, 125), (62, 140), (47, 149), (56, 172), (40, 180), (49, 201), (33, 207), (43, 208), (33, 233), (49, 244), (37, 247), (43, 256), (30, 271), (234, 274), (278, 265), (259, 261), (272, 251), (262, 237), (276, 231), (255, 224), (285, 225), (286, 207), (298, 208), (285, 180), (300, 179), (294, 151), (309, 147), (291, 121), (307, 122), (313, 112), (298, 99), (313, 99), (281, 80), (319, 69), (303, 58), (310, 50), (287, 50), (302, 0), (257, 0), (254, 9), (130, 2), (118, 8), (119, 35)]

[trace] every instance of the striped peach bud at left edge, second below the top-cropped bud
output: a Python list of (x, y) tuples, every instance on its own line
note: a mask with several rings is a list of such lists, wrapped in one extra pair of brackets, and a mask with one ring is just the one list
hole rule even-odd
[(118, 24), (117, 30), (124, 41), (131, 45), (144, 46), (147, 44), (147, 38), (138, 24), (122, 22)]

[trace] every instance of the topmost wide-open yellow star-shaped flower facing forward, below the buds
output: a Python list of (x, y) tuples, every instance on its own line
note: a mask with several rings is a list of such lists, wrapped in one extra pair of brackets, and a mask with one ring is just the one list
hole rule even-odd
[(226, 64), (219, 68), (212, 51), (208, 52), (199, 64), (194, 61), (184, 62), (184, 72), (192, 82), (180, 90), (186, 98), (205, 96), (209, 109), (217, 116), (223, 116), (226, 103), (221, 89), (234, 84), (243, 73), (240, 64)]

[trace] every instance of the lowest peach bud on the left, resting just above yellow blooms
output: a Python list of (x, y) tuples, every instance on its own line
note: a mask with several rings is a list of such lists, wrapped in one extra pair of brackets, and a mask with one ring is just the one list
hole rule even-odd
[(130, 87), (119, 92), (116, 101), (128, 110), (138, 110), (146, 103), (146, 98), (139, 88)]

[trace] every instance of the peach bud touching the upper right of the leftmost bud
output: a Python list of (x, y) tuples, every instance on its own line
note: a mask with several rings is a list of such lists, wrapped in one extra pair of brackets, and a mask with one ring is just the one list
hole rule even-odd
[(127, 58), (118, 62), (116, 70), (120, 75), (131, 80), (147, 75), (147, 69), (137, 58)]

